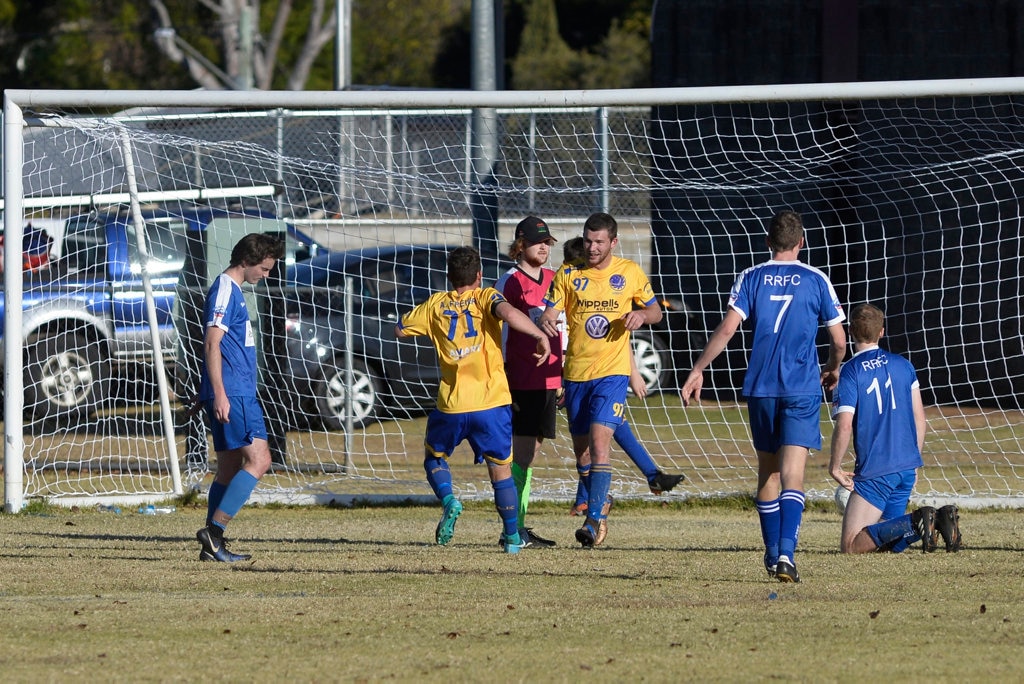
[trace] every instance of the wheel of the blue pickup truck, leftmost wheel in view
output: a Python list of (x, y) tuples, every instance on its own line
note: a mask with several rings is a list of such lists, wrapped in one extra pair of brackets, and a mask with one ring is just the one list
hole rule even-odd
[(37, 421), (88, 418), (104, 395), (98, 345), (81, 334), (40, 333), (26, 341), (25, 408)]

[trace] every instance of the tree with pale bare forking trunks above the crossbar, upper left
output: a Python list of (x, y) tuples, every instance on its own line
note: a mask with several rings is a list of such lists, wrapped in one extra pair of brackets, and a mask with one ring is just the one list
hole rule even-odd
[[(301, 34), (297, 43), (300, 48), (282, 85), (287, 90), (301, 90), (309, 79), (316, 57), (336, 35), (334, 3), (328, 0), (312, 0), (305, 7), (308, 10), (305, 17), (301, 14), (293, 16), (293, 0), (281, 0), (274, 8), (267, 8), (269, 33), (266, 36), (260, 32), (265, 17), (258, 0), (198, 0), (198, 4), (212, 12), (212, 24), (219, 27), (219, 40), (215, 41), (215, 45), (220, 50), (223, 65), (220, 68), (204, 53), (202, 47), (179, 36), (174, 18), (163, 0), (150, 0), (150, 4), (157, 13), (157, 46), (161, 52), (171, 60), (183, 63), (199, 85), (213, 90), (253, 86), (267, 90), (274, 87), (283, 41), (286, 36), (294, 37), (297, 33)], [(175, 7), (178, 8), (178, 5)], [(304, 27), (304, 33), (298, 27)], [(202, 32), (199, 37), (203, 37)], [(208, 40), (204, 42), (209, 44)]]

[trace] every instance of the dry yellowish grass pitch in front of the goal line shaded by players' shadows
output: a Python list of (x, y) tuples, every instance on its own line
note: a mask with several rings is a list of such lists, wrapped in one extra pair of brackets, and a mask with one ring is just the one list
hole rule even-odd
[(845, 557), (812, 508), (799, 585), (743, 501), (620, 506), (589, 551), (545, 504), (558, 548), (517, 556), (484, 503), (449, 547), (433, 507), (249, 507), (234, 565), (198, 560), (204, 515), (0, 515), (4, 681), (1024, 679), (1018, 510), (964, 512), (958, 554)]

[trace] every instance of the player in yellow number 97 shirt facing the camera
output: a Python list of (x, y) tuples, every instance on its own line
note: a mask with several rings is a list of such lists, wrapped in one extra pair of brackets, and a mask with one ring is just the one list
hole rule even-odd
[[(590, 461), (587, 521), (577, 541), (590, 548), (607, 530), (605, 501), (611, 487), (611, 439), (622, 425), (630, 381), (630, 332), (662, 320), (663, 311), (640, 266), (612, 254), (618, 224), (604, 213), (584, 224), (587, 261), (561, 268), (545, 298), (541, 330), (554, 335), (564, 311), (568, 348), (562, 377), (577, 467)], [(635, 308), (634, 304), (640, 308)]]

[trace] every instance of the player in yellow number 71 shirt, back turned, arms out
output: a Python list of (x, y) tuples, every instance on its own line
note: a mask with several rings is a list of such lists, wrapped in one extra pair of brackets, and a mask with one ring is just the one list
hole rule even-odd
[(452, 489), (447, 459), (464, 439), (476, 460), (486, 462), (502, 519), (506, 553), (525, 546), (519, 537), (519, 507), (512, 479), (512, 395), (502, 355), (502, 322), (537, 341), (537, 365), (551, 355), (548, 336), (494, 288), (480, 287), (480, 254), (472, 247), (452, 251), (447, 276), (453, 290), (431, 295), (401, 317), (399, 338), (427, 335), (437, 349), (441, 384), (437, 408), (427, 418), (423, 467), (427, 482), (443, 506), (434, 539), (445, 545), (455, 536), (462, 503)]

